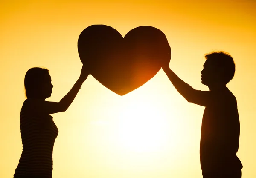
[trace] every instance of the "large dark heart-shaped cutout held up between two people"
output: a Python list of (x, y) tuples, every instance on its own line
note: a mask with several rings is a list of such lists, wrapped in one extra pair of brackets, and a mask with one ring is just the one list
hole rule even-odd
[(168, 49), (165, 34), (152, 26), (137, 27), (122, 37), (110, 26), (92, 25), (78, 39), (79, 57), (90, 74), (121, 96), (153, 78)]

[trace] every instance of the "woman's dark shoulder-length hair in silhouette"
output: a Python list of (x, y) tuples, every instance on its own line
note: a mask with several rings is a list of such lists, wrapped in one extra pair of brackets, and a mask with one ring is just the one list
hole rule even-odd
[(40, 67), (33, 67), (26, 72), (24, 79), (26, 98), (36, 96), (46, 74), (49, 74), (49, 70)]

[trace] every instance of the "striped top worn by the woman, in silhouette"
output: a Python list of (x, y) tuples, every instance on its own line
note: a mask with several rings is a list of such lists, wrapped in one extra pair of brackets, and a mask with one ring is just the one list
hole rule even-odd
[(32, 102), (25, 100), (20, 112), (23, 150), (14, 178), (52, 178), (52, 150), (58, 128), (51, 115), (33, 112)]

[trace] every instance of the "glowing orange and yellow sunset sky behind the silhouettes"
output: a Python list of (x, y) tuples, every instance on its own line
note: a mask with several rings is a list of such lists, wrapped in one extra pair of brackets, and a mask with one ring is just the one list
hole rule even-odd
[[(80, 75), (79, 34), (105, 24), (123, 36), (154, 26), (172, 48), (170, 68), (195, 89), (204, 54), (226, 51), (236, 73), (243, 178), (256, 177), (255, 0), (1, 0), (0, 178), (12, 178), (22, 143), (20, 109), (28, 69), (49, 69), (59, 101)], [(91, 75), (66, 112), (53, 114), (59, 134), (53, 178), (201, 178), (199, 143), (204, 107), (188, 103), (163, 70), (119, 96)]]

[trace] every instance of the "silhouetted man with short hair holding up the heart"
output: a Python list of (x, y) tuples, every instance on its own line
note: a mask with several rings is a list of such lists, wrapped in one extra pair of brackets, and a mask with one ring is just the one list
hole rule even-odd
[(241, 178), (242, 164), (236, 156), (240, 123), (236, 97), (226, 87), (233, 78), (235, 64), (226, 52), (205, 55), (202, 84), (209, 91), (195, 90), (169, 68), (169, 48), (163, 71), (177, 91), (191, 103), (205, 107), (200, 140), (200, 162), (204, 178)]

